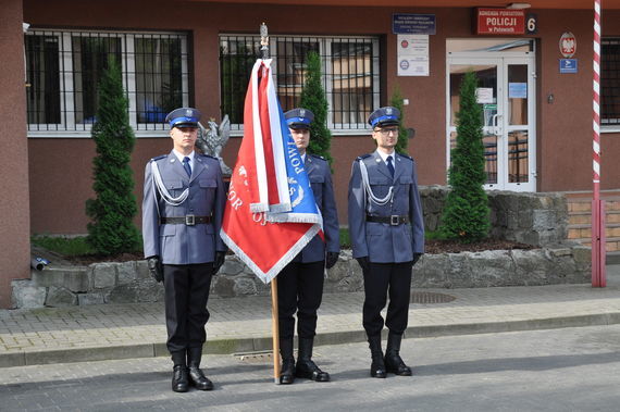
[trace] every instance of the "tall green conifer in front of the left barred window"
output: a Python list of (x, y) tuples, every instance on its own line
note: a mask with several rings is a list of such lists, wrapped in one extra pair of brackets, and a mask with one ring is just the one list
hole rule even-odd
[(96, 122), (91, 136), (97, 145), (92, 189), (86, 201), (87, 241), (99, 254), (114, 255), (138, 249), (139, 235), (133, 219), (138, 209), (129, 160), (136, 137), (129, 126), (128, 101), (121, 67), (110, 59), (99, 83)]

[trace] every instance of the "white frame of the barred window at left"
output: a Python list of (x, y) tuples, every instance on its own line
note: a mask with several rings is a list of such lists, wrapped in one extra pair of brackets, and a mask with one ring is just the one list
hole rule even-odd
[[(79, 36), (76, 36), (78, 34)], [(181, 82), (183, 105), (190, 104), (191, 96), (189, 84), (193, 73), (190, 73), (191, 54), (188, 49), (189, 32), (139, 32), (139, 30), (94, 30), (94, 29), (49, 29), (30, 27), (25, 36), (55, 37), (59, 41), (59, 79), (60, 79), (60, 123), (30, 123), (27, 121), (28, 138), (90, 138), (92, 123), (76, 123), (74, 76), (75, 51), (73, 50), (73, 38), (84, 37), (110, 37), (121, 39), (121, 71), (123, 89), (128, 101), (127, 113), (129, 124), (136, 137), (165, 137), (168, 136), (168, 125), (165, 123), (138, 122), (138, 90), (136, 73), (135, 39), (138, 38), (178, 38), (181, 41)], [(168, 37), (166, 37), (168, 36)], [(25, 50), (26, 45), (24, 45)], [(25, 58), (27, 53), (25, 52)], [(25, 62), (27, 67), (27, 62)], [(28, 116), (26, 116), (27, 118)]]

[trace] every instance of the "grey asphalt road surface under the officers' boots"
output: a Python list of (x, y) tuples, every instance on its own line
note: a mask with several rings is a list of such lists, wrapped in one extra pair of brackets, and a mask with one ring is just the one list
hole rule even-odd
[(408, 338), (413, 376), (369, 376), (368, 344), (317, 348), (332, 382), (274, 385), (269, 354), (209, 354), (212, 391), (170, 388), (165, 358), (4, 367), (5, 411), (618, 411), (620, 325)]

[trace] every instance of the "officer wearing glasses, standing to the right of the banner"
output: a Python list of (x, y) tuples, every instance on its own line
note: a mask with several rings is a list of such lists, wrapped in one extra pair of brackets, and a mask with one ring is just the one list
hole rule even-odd
[[(370, 115), (376, 151), (354, 161), (349, 182), (349, 235), (354, 258), (363, 271), (363, 327), (373, 377), (386, 377), (388, 372), (411, 375), (399, 354), (400, 340), (408, 323), (411, 269), (424, 252), (416, 162), (394, 150), (399, 118), (400, 112), (392, 107)], [(389, 334), (384, 357), (381, 311), (388, 294), (385, 325)]]

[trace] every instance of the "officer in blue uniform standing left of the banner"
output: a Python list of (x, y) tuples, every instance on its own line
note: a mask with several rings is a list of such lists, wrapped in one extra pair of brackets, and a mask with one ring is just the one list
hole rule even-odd
[(200, 358), (211, 277), (226, 250), (220, 238), (226, 197), (220, 162), (194, 151), (199, 120), (200, 112), (193, 108), (172, 111), (165, 121), (173, 149), (151, 159), (145, 171), (145, 257), (151, 275), (163, 280), (175, 392), (186, 392), (189, 385), (213, 388), (200, 370)]

